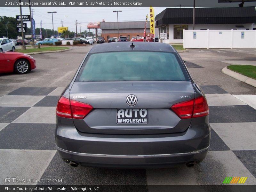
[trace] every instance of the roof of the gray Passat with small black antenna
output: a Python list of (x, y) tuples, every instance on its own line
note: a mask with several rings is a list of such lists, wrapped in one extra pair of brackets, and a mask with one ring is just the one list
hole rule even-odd
[[(130, 45), (134, 45), (134, 47)], [(160, 51), (176, 52), (169, 44), (156, 42), (120, 42), (115, 44), (100, 44), (92, 47), (89, 53), (118, 52), (118, 51)]]

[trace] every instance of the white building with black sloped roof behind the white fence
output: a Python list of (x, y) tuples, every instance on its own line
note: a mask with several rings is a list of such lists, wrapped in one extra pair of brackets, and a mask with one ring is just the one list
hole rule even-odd
[[(156, 36), (166, 33), (163, 43), (183, 43), (183, 29), (193, 30), (193, 8), (166, 8), (156, 15)], [(195, 30), (255, 29), (255, 7), (196, 8)]]

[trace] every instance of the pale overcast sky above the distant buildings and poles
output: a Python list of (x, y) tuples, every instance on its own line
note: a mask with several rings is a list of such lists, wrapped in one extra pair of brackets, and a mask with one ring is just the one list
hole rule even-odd
[[(155, 16), (162, 12), (166, 7), (155, 7)], [(47, 12), (56, 11), (53, 13), (54, 30), (61, 27), (61, 20), (63, 26), (68, 27), (70, 31), (76, 30), (75, 20), (81, 22), (81, 31), (88, 30), (88, 22), (102, 21), (106, 22), (117, 21), (117, 14), (113, 11), (122, 12), (118, 13), (118, 21), (144, 21), (146, 15), (149, 14), (149, 7), (35, 7), (33, 8), (33, 18), (36, 22), (36, 28), (40, 28), (40, 21), (42, 20), (42, 28), (52, 29), (52, 14)], [(0, 16), (16, 17), (20, 14), (19, 7), (0, 7)], [(22, 8), (23, 15), (29, 15), (29, 8)], [(77, 32), (80, 31), (79, 25)]]

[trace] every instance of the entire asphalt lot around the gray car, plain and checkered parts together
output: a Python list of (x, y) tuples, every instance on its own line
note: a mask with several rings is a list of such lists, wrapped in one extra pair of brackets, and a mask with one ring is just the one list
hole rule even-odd
[(255, 49), (180, 53), (210, 108), (211, 147), (201, 164), (126, 170), (74, 168), (62, 162), (54, 143), (57, 100), (92, 46), (33, 55), (37, 68), (30, 73), (0, 74), (0, 185), (17, 184), (5, 183), (6, 177), (62, 179), (42, 185), (145, 186), (222, 185), (225, 177), (248, 177), (244, 185), (256, 185), (256, 88), (221, 73), (228, 65), (223, 61), (256, 61)]

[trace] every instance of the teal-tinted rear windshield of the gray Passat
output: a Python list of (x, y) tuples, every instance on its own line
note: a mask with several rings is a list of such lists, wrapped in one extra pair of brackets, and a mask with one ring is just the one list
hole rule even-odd
[(176, 53), (104, 52), (89, 55), (76, 82), (189, 81)]

